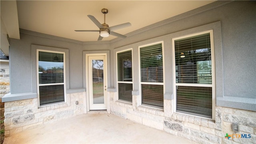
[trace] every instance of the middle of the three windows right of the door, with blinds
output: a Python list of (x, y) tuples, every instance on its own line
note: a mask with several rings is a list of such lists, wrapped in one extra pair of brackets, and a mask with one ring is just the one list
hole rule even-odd
[(142, 105), (164, 107), (162, 42), (142, 46), (140, 50), (140, 86)]

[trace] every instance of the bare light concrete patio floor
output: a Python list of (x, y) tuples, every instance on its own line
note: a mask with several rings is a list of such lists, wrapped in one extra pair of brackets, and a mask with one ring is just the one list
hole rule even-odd
[(6, 137), (4, 144), (169, 143), (193, 141), (113, 114), (82, 114)]

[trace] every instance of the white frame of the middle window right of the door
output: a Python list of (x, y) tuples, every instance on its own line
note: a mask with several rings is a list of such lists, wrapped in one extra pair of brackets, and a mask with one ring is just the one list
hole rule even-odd
[[(151, 45), (154, 45), (154, 44), (160, 44), (162, 43), (162, 59), (163, 59), (163, 82), (141, 82), (141, 72), (140, 72), (140, 48), (143, 48), (143, 47), (146, 47), (146, 46), (151, 46)], [(165, 83), (165, 66), (164, 66), (164, 41), (158, 41), (158, 42), (154, 42), (154, 43), (150, 43), (150, 44), (145, 44), (145, 45), (142, 45), (142, 46), (139, 46), (138, 47), (138, 55), (139, 55), (139, 90), (140, 90), (140, 105), (141, 106), (146, 106), (146, 107), (149, 107), (149, 108), (155, 108), (155, 109), (158, 109), (158, 110), (164, 110), (164, 108), (157, 108), (157, 107), (154, 107), (154, 106), (149, 106), (149, 105), (144, 105), (142, 104), (142, 88), (141, 88), (141, 85), (142, 84), (150, 84), (150, 85), (162, 85), (163, 86), (163, 95), (165, 94), (165, 86), (164, 86), (164, 83)]]

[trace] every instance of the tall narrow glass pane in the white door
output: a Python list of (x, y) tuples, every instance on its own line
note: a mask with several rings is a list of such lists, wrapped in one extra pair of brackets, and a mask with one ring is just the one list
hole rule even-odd
[(92, 92), (94, 104), (104, 104), (103, 64), (103, 60), (92, 60)]

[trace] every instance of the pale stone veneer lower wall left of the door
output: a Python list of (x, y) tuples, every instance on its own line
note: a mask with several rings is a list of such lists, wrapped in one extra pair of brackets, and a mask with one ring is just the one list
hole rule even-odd
[[(86, 92), (66, 94), (66, 103), (38, 108), (38, 99), (5, 102), (5, 136), (86, 113)], [(78, 101), (78, 104), (76, 104)]]

